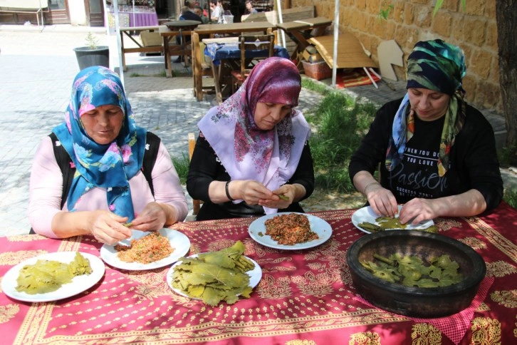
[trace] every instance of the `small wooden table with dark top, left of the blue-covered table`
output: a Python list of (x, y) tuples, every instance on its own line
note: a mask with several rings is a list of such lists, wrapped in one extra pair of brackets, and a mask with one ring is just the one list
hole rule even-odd
[[(187, 66), (187, 56), (192, 55), (192, 48), (188, 48), (185, 38), (190, 36), (191, 31), (201, 24), (199, 21), (168, 21), (167, 26), (160, 26), (160, 36), (163, 37), (164, 58), (165, 58), (165, 74), (167, 78), (172, 77), (171, 56), (183, 56), (184, 66)], [(169, 29), (169, 26), (172, 29)], [(179, 36), (179, 44), (170, 44), (173, 37)]]

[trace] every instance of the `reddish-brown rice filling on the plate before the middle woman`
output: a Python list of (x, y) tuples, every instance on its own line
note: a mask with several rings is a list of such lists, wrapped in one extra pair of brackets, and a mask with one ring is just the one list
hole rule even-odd
[(293, 245), (318, 240), (318, 234), (310, 230), (309, 219), (305, 215), (289, 213), (266, 220), (266, 235), (278, 244)]

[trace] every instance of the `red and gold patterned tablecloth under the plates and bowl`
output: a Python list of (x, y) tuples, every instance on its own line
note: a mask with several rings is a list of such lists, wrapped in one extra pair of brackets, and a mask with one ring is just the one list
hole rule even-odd
[[(86, 292), (57, 302), (25, 303), (0, 294), (4, 344), (453, 344), (432, 323), (360, 302), (345, 257), (365, 235), (352, 225), (354, 210), (315, 212), (333, 235), (313, 249), (281, 251), (248, 235), (253, 219), (184, 222), (174, 226), (191, 241), (190, 254), (241, 240), (263, 277), (251, 299), (209, 307), (181, 297), (165, 282), (169, 267), (123, 271), (106, 266)], [(436, 220), (442, 235), (469, 244), (494, 280), (459, 344), (517, 341), (517, 211), (503, 204), (481, 217)], [(47, 252), (99, 256), (93, 237), (51, 240), (38, 235), (0, 238), (0, 276)]]

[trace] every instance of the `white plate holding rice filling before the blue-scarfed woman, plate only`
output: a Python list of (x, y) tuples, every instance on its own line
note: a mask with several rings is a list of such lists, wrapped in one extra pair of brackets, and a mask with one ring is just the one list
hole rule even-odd
[[(132, 236), (128, 240), (131, 242), (131, 240), (138, 240), (140, 237), (144, 237), (145, 235), (149, 234), (150, 232), (132, 230)], [(103, 247), (100, 248), (100, 257), (103, 258), (104, 262), (116, 268), (127, 269), (128, 271), (143, 271), (145, 269), (155, 269), (167, 266), (169, 264), (174, 264), (177, 259), (184, 257), (185, 254), (189, 252), (189, 237), (183, 235), (181, 232), (163, 228), (160, 230), (160, 234), (162, 234), (164, 237), (167, 237), (171, 247), (174, 248), (174, 252), (161, 260), (150, 262), (149, 264), (142, 264), (140, 262), (124, 262), (118, 258), (118, 252), (115, 250), (115, 247), (108, 244), (104, 244)]]

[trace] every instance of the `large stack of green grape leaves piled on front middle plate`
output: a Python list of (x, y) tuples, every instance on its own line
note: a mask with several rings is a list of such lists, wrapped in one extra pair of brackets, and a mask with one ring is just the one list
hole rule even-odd
[(244, 244), (237, 241), (217, 252), (179, 259), (181, 263), (174, 266), (172, 273), (172, 287), (212, 307), (221, 301), (234, 304), (239, 296), (249, 298), (253, 288), (246, 272), (255, 265), (244, 257), (244, 249)]

